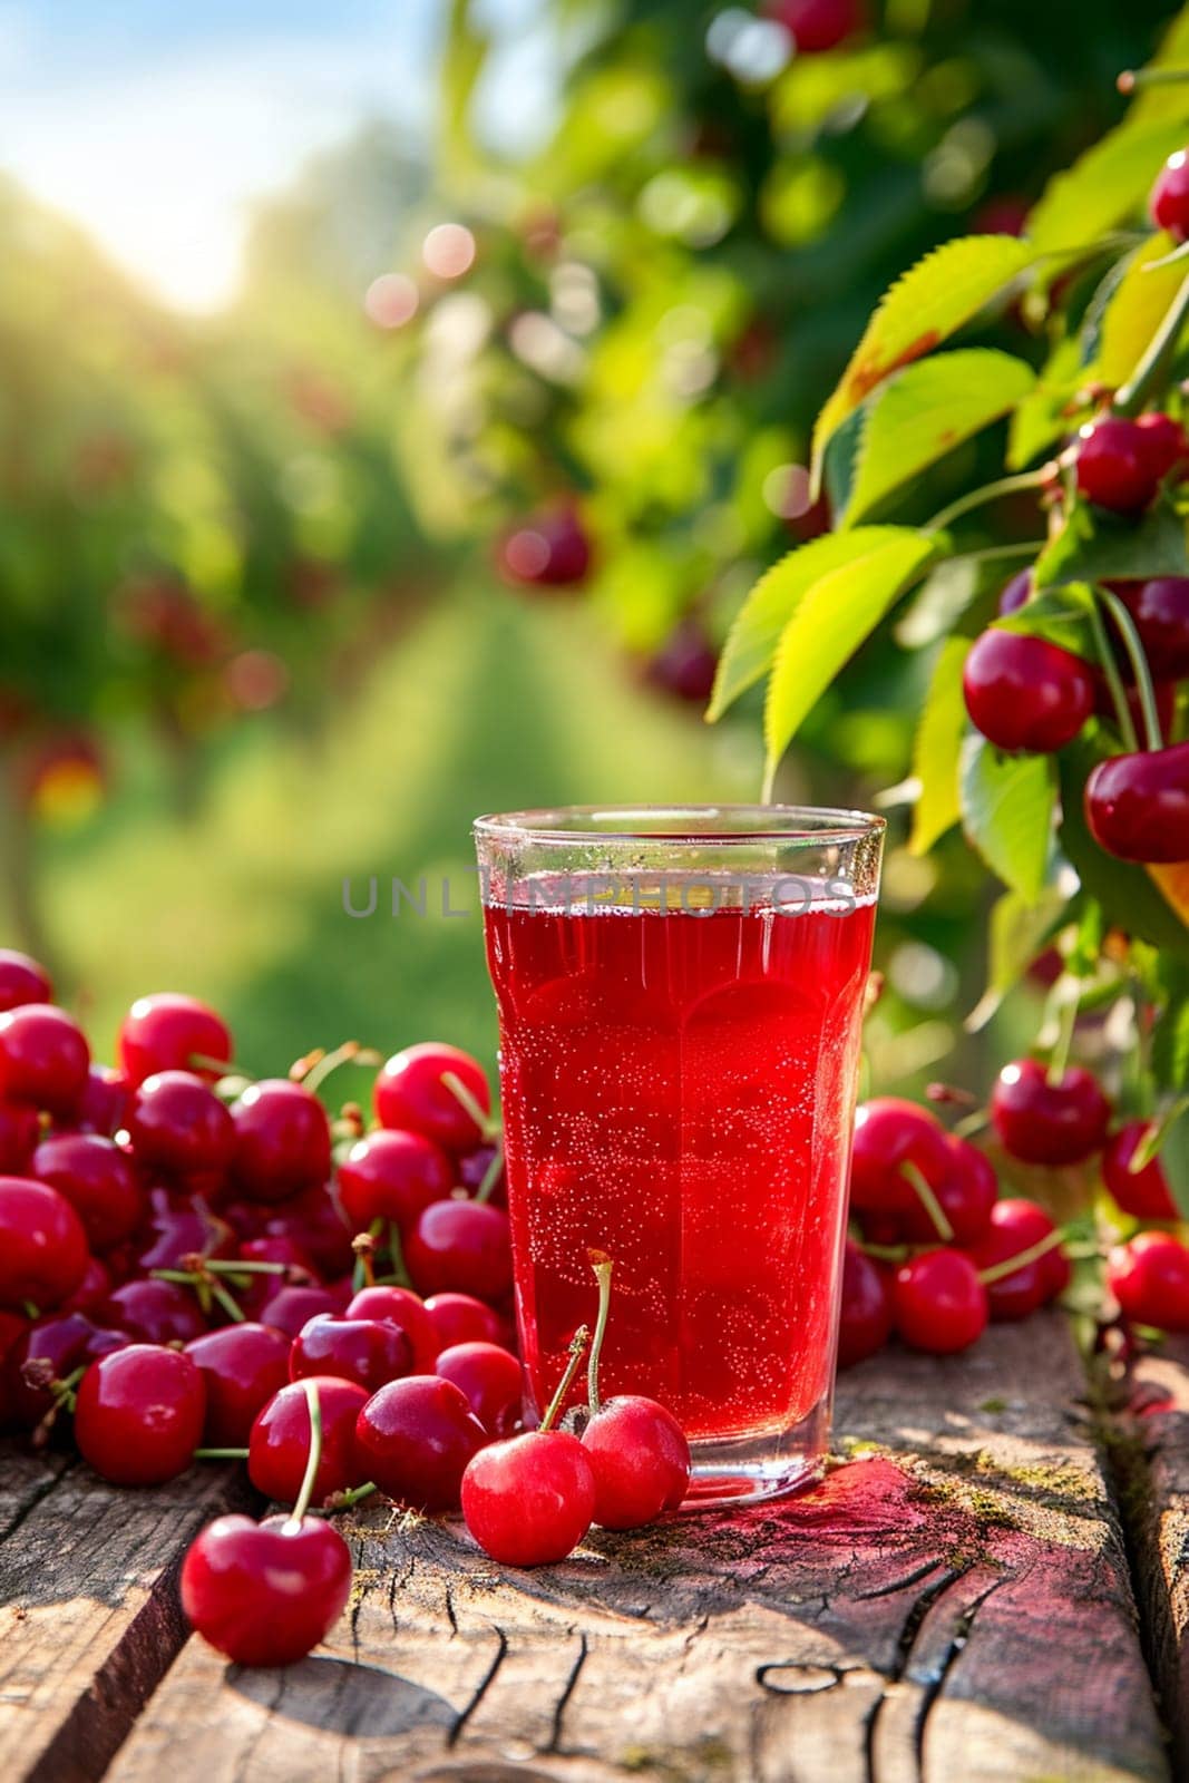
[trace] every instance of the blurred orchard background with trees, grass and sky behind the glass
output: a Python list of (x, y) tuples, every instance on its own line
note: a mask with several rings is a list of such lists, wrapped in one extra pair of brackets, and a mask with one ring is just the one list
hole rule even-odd
[[(480, 924), (435, 890), (474, 911), (471, 818), (758, 795), (756, 708), (702, 722), (715, 651), (825, 524), (808, 433), (866, 312), (1018, 230), (1173, 11), (5, 0), (2, 931), (98, 1048), (169, 988), (260, 1072), (490, 1061)], [(916, 601), (859, 654), (781, 797), (904, 781), (900, 642), (943, 629)], [(888, 811), (870, 1059), (913, 1086), (986, 1045), (991, 890)]]

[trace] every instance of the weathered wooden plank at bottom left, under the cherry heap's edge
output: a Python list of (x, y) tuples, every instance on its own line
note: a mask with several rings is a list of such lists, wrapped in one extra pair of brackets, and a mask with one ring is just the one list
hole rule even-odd
[(182, 1647), (185, 1544), (232, 1469), (121, 1492), (66, 1455), (0, 1458), (0, 1778), (93, 1783)]

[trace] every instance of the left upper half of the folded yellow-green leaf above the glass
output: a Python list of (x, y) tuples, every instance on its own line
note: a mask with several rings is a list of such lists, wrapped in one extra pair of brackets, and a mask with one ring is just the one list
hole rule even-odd
[(772, 667), (781, 633), (809, 588), (838, 569), (865, 574), (868, 560), (916, 533), (904, 526), (859, 526), (852, 533), (825, 533), (790, 551), (765, 571), (740, 608), (727, 635), (706, 717), (720, 719), (749, 686)]

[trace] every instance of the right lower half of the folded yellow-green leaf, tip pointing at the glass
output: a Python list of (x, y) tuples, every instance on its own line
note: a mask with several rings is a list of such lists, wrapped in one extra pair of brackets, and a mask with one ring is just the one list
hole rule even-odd
[(879, 531), (884, 540), (877, 549), (831, 569), (804, 590), (781, 633), (763, 717), (768, 781), (800, 720), (938, 549), (934, 538), (907, 526), (859, 528), (838, 538)]

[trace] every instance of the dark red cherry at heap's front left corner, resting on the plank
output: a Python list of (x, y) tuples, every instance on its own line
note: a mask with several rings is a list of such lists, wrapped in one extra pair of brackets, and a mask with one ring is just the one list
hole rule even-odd
[(128, 1344), (91, 1362), (78, 1382), (75, 1442), (112, 1485), (160, 1485), (193, 1462), (205, 1405), (189, 1355)]

